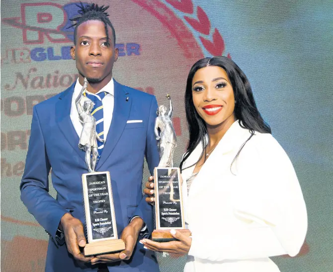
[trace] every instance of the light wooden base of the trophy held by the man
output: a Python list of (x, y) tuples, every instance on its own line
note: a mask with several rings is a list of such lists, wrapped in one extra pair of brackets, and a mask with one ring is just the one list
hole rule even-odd
[(83, 249), (83, 254), (84, 256), (100, 255), (100, 254), (119, 252), (123, 251), (124, 249), (125, 249), (124, 241), (121, 239), (117, 239), (117, 240), (93, 242), (90, 244), (86, 244)]

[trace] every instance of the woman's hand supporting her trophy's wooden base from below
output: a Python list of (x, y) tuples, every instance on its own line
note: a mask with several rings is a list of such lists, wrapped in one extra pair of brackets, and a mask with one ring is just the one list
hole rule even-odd
[(145, 246), (146, 249), (157, 251), (157, 252), (169, 252), (172, 254), (188, 254), (191, 244), (192, 238), (178, 232), (176, 230), (170, 230), (171, 235), (178, 239), (178, 241), (171, 241), (165, 243), (158, 243), (151, 241), (149, 239), (140, 240), (140, 243)]

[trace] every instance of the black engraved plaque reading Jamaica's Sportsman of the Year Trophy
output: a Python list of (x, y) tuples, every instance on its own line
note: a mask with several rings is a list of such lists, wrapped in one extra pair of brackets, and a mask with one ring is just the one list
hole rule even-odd
[(88, 243), (117, 239), (109, 173), (84, 174), (83, 197)]

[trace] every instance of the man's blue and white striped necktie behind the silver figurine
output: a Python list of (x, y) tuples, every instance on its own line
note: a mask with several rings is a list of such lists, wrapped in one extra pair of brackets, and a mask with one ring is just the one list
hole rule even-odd
[[(91, 115), (96, 119), (96, 133), (102, 139), (104, 139), (104, 116), (103, 116), (103, 104), (102, 99), (106, 96), (106, 92), (100, 92), (98, 94), (89, 94), (83, 93), (84, 96), (89, 98), (95, 105), (91, 110)], [(97, 140), (98, 146), (98, 156), (97, 161), (99, 160), (100, 154), (102, 153), (104, 144)]]

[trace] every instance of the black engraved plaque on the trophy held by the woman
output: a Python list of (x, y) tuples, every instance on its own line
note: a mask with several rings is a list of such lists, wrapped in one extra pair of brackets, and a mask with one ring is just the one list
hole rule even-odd
[(179, 168), (156, 168), (157, 229), (184, 228)]

